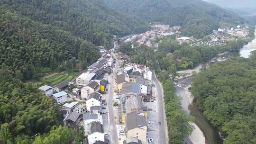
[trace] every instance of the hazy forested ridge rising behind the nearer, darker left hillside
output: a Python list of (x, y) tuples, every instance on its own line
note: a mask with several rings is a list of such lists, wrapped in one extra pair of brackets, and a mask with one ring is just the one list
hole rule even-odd
[(102, 45), (104, 38), (144, 32), (146, 23), (110, 9), (102, 0), (1, 0), (7, 8)]

